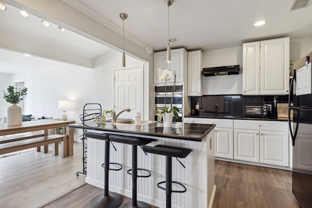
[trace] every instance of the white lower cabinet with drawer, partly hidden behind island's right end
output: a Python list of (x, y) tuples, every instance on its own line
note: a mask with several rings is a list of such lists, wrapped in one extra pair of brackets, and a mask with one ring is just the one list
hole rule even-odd
[(233, 120), (195, 118), (198, 124), (215, 124), (215, 157), (234, 159)]

